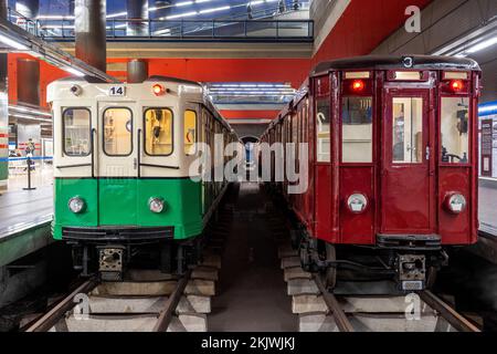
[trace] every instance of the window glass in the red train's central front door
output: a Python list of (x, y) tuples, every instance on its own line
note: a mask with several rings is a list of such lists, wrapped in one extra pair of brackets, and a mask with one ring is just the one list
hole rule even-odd
[(392, 159), (398, 164), (423, 162), (423, 98), (394, 97)]

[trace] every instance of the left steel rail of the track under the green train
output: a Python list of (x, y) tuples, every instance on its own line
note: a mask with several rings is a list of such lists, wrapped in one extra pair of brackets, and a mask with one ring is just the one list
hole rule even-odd
[(53, 327), (57, 321), (64, 316), (64, 314), (73, 309), (76, 303), (74, 298), (80, 293), (88, 293), (96, 285), (98, 281), (96, 278), (92, 278), (85, 281), (83, 284), (77, 287), (71, 294), (60, 301), (54, 308), (36, 320), (32, 325), (30, 325), (24, 332), (47, 332)]

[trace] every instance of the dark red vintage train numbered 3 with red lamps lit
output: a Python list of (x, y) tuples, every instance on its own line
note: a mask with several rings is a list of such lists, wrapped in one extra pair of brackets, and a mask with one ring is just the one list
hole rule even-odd
[(421, 290), (447, 247), (476, 242), (480, 77), (475, 61), (448, 56), (315, 67), (261, 140), (308, 144), (307, 190), (290, 195), (286, 178), (271, 183), (302, 226), (305, 269), (329, 288), (343, 269)]

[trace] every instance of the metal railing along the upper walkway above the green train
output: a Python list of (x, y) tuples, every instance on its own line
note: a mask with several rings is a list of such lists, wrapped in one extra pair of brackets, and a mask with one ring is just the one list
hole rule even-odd
[[(74, 39), (74, 19), (31, 20), (9, 9), (8, 19), (33, 35)], [(107, 20), (109, 41), (314, 41), (313, 20)]]

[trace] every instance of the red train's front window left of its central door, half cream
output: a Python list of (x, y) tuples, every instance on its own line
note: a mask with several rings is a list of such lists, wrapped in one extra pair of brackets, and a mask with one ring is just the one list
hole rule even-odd
[(372, 163), (372, 97), (345, 97), (341, 108), (342, 163)]

